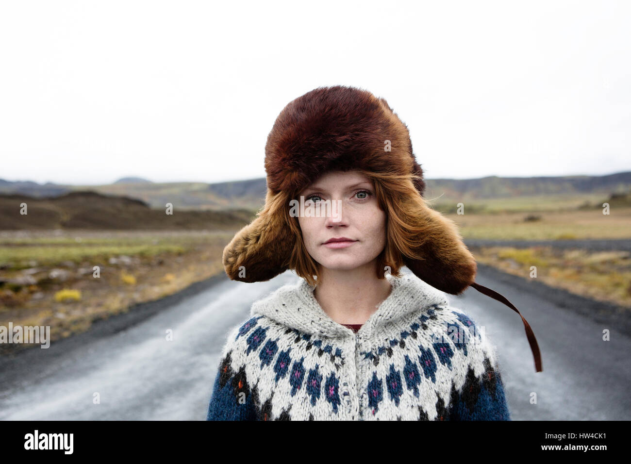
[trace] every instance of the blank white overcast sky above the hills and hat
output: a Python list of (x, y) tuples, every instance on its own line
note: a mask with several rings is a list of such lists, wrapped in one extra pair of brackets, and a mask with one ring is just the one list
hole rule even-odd
[(3, 1), (0, 178), (264, 177), (283, 107), (384, 97), (428, 179), (631, 170), (628, 1)]

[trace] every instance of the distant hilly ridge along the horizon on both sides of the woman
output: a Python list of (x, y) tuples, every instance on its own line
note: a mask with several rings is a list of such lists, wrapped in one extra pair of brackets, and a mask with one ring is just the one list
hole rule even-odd
[[(574, 209), (615, 200), (627, 204), (631, 195), (631, 171), (608, 175), (557, 177), (498, 177), (478, 179), (425, 179), (425, 198), (432, 207), (452, 213), (466, 202), (468, 211)], [(152, 182), (142, 177), (122, 177), (113, 184), (44, 185), (30, 181), (0, 179), (0, 194), (22, 194), (37, 198), (60, 196), (71, 191), (96, 191), (109, 196), (136, 198), (150, 208), (164, 209), (168, 203), (179, 210), (247, 210), (256, 213), (265, 203), (265, 177), (230, 182)], [(519, 204), (520, 206), (516, 206)], [(538, 206), (540, 205), (540, 206)], [(547, 205), (547, 206), (545, 206)], [(536, 206), (536, 208), (535, 208)], [(595, 206), (594, 206), (595, 207)], [(475, 209), (477, 208), (477, 209)], [(481, 208), (481, 209), (480, 209)]]

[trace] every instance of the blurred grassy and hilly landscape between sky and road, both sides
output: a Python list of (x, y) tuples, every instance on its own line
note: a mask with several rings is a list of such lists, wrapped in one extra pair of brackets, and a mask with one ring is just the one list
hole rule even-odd
[[(536, 266), (546, 285), (631, 314), (631, 172), (426, 182), (425, 198), (457, 223), (478, 262), (524, 279)], [(0, 325), (50, 326), (54, 341), (221, 274), (223, 247), (265, 193), (264, 178), (0, 179)]]

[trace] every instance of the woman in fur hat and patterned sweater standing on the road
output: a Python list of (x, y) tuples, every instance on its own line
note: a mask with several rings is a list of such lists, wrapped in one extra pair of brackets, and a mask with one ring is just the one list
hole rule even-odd
[(207, 419), (510, 420), (492, 344), (445, 295), (494, 292), (473, 282), (455, 224), (422, 198), (386, 100), (345, 86), (293, 100), (265, 167), (266, 205), (223, 264), (242, 282), (288, 269), (300, 280), (230, 331)]

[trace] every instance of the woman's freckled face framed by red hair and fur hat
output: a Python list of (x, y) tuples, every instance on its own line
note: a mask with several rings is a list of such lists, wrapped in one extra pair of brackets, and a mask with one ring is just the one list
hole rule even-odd
[[(304, 210), (311, 212), (311, 217), (298, 214), (305, 247), (324, 268), (368, 265), (386, 246), (386, 213), (379, 208), (372, 182), (360, 172), (327, 172), (299, 193), (298, 201), (300, 196)], [(325, 244), (339, 237), (352, 242)]]

